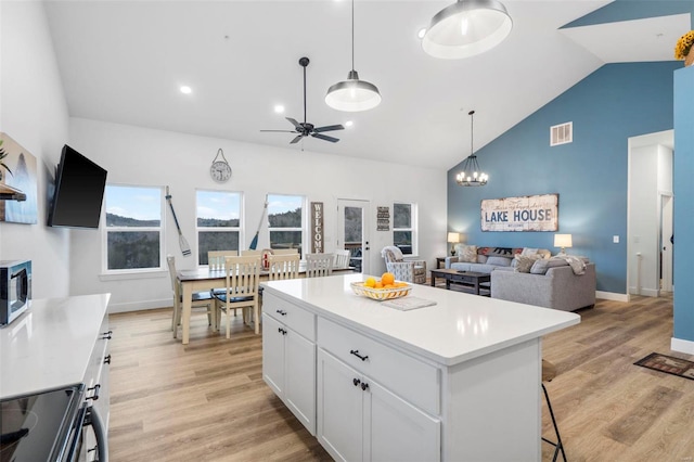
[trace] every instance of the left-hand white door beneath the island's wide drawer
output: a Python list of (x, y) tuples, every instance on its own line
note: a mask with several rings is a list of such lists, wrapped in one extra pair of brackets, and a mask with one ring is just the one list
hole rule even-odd
[(359, 461), (363, 457), (364, 392), (360, 384), (357, 371), (319, 348), (317, 436), (338, 461)]

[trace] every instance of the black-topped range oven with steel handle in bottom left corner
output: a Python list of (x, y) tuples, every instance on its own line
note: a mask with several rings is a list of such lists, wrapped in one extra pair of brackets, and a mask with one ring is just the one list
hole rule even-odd
[[(105, 427), (83, 385), (0, 401), (0, 462), (107, 462)], [(97, 446), (85, 444), (93, 432)]]

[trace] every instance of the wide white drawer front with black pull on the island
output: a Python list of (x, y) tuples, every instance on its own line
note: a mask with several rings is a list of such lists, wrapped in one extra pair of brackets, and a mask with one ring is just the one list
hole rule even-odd
[(439, 414), (440, 375), (434, 365), (323, 318), (318, 319), (318, 345), (420, 409)]

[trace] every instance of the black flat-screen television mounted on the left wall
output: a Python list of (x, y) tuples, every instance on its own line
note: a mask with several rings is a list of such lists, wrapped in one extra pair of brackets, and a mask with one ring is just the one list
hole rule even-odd
[(106, 170), (65, 144), (55, 174), (49, 227), (99, 228)]

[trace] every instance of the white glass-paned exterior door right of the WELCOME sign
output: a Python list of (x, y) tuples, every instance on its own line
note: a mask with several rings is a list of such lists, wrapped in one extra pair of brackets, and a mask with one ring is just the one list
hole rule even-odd
[(337, 200), (337, 248), (349, 249), (350, 265), (370, 273), (369, 201)]

